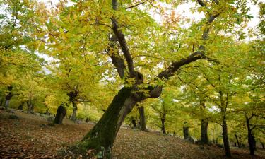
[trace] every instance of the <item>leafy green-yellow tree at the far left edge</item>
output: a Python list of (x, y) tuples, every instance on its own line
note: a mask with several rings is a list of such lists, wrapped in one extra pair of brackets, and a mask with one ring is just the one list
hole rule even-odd
[[(35, 50), (28, 47), (34, 38), (34, 14), (31, 8), (35, 3), (29, 1), (1, 1), (0, 25), (0, 91), (5, 94), (5, 107), (9, 107), (11, 98), (18, 93), (13, 93), (23, 81), (24, 73), (40, 73), (42, 59), (35, 55)], [(34, 72), (35, 71), (35, 72)], [(34, 73), (33, 73), (34, 72)]]

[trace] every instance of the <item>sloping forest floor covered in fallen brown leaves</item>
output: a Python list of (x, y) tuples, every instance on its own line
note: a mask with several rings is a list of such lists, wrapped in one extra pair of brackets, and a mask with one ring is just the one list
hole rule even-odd
[[(11, 119), (16, 114), (18, 119)], [(47, 126), (45, 117), (0, 110), (0, 158), (56, 158), (57, 151), (82, 137), (93, 124), (74, 124), (69, 119), (63, 125)], [(251, 157), (247, 149), (231, 148), (233, 159), (265, 159), (259, 149)], [(118, 159), (223, 159), (224, 150), (216, 146), (200, 146), (174, 136), (121, 129), (113, 147), (113, 158)]]

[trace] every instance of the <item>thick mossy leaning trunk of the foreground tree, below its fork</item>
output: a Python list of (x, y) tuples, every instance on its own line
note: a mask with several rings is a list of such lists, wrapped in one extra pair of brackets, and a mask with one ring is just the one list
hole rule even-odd
[[(93, 129), (66, 153), (73, 153), (73, 158), (82, 155), (83, 158), (111, 158), (112, 146), (120, 126), (129, 112), (136, 105), (136, 98), (131, 94), (131, 88), (122, 88), (115, 95), (112, 103), (95, 124)], [(90, 151), (89, 151), (90, 150)]]

